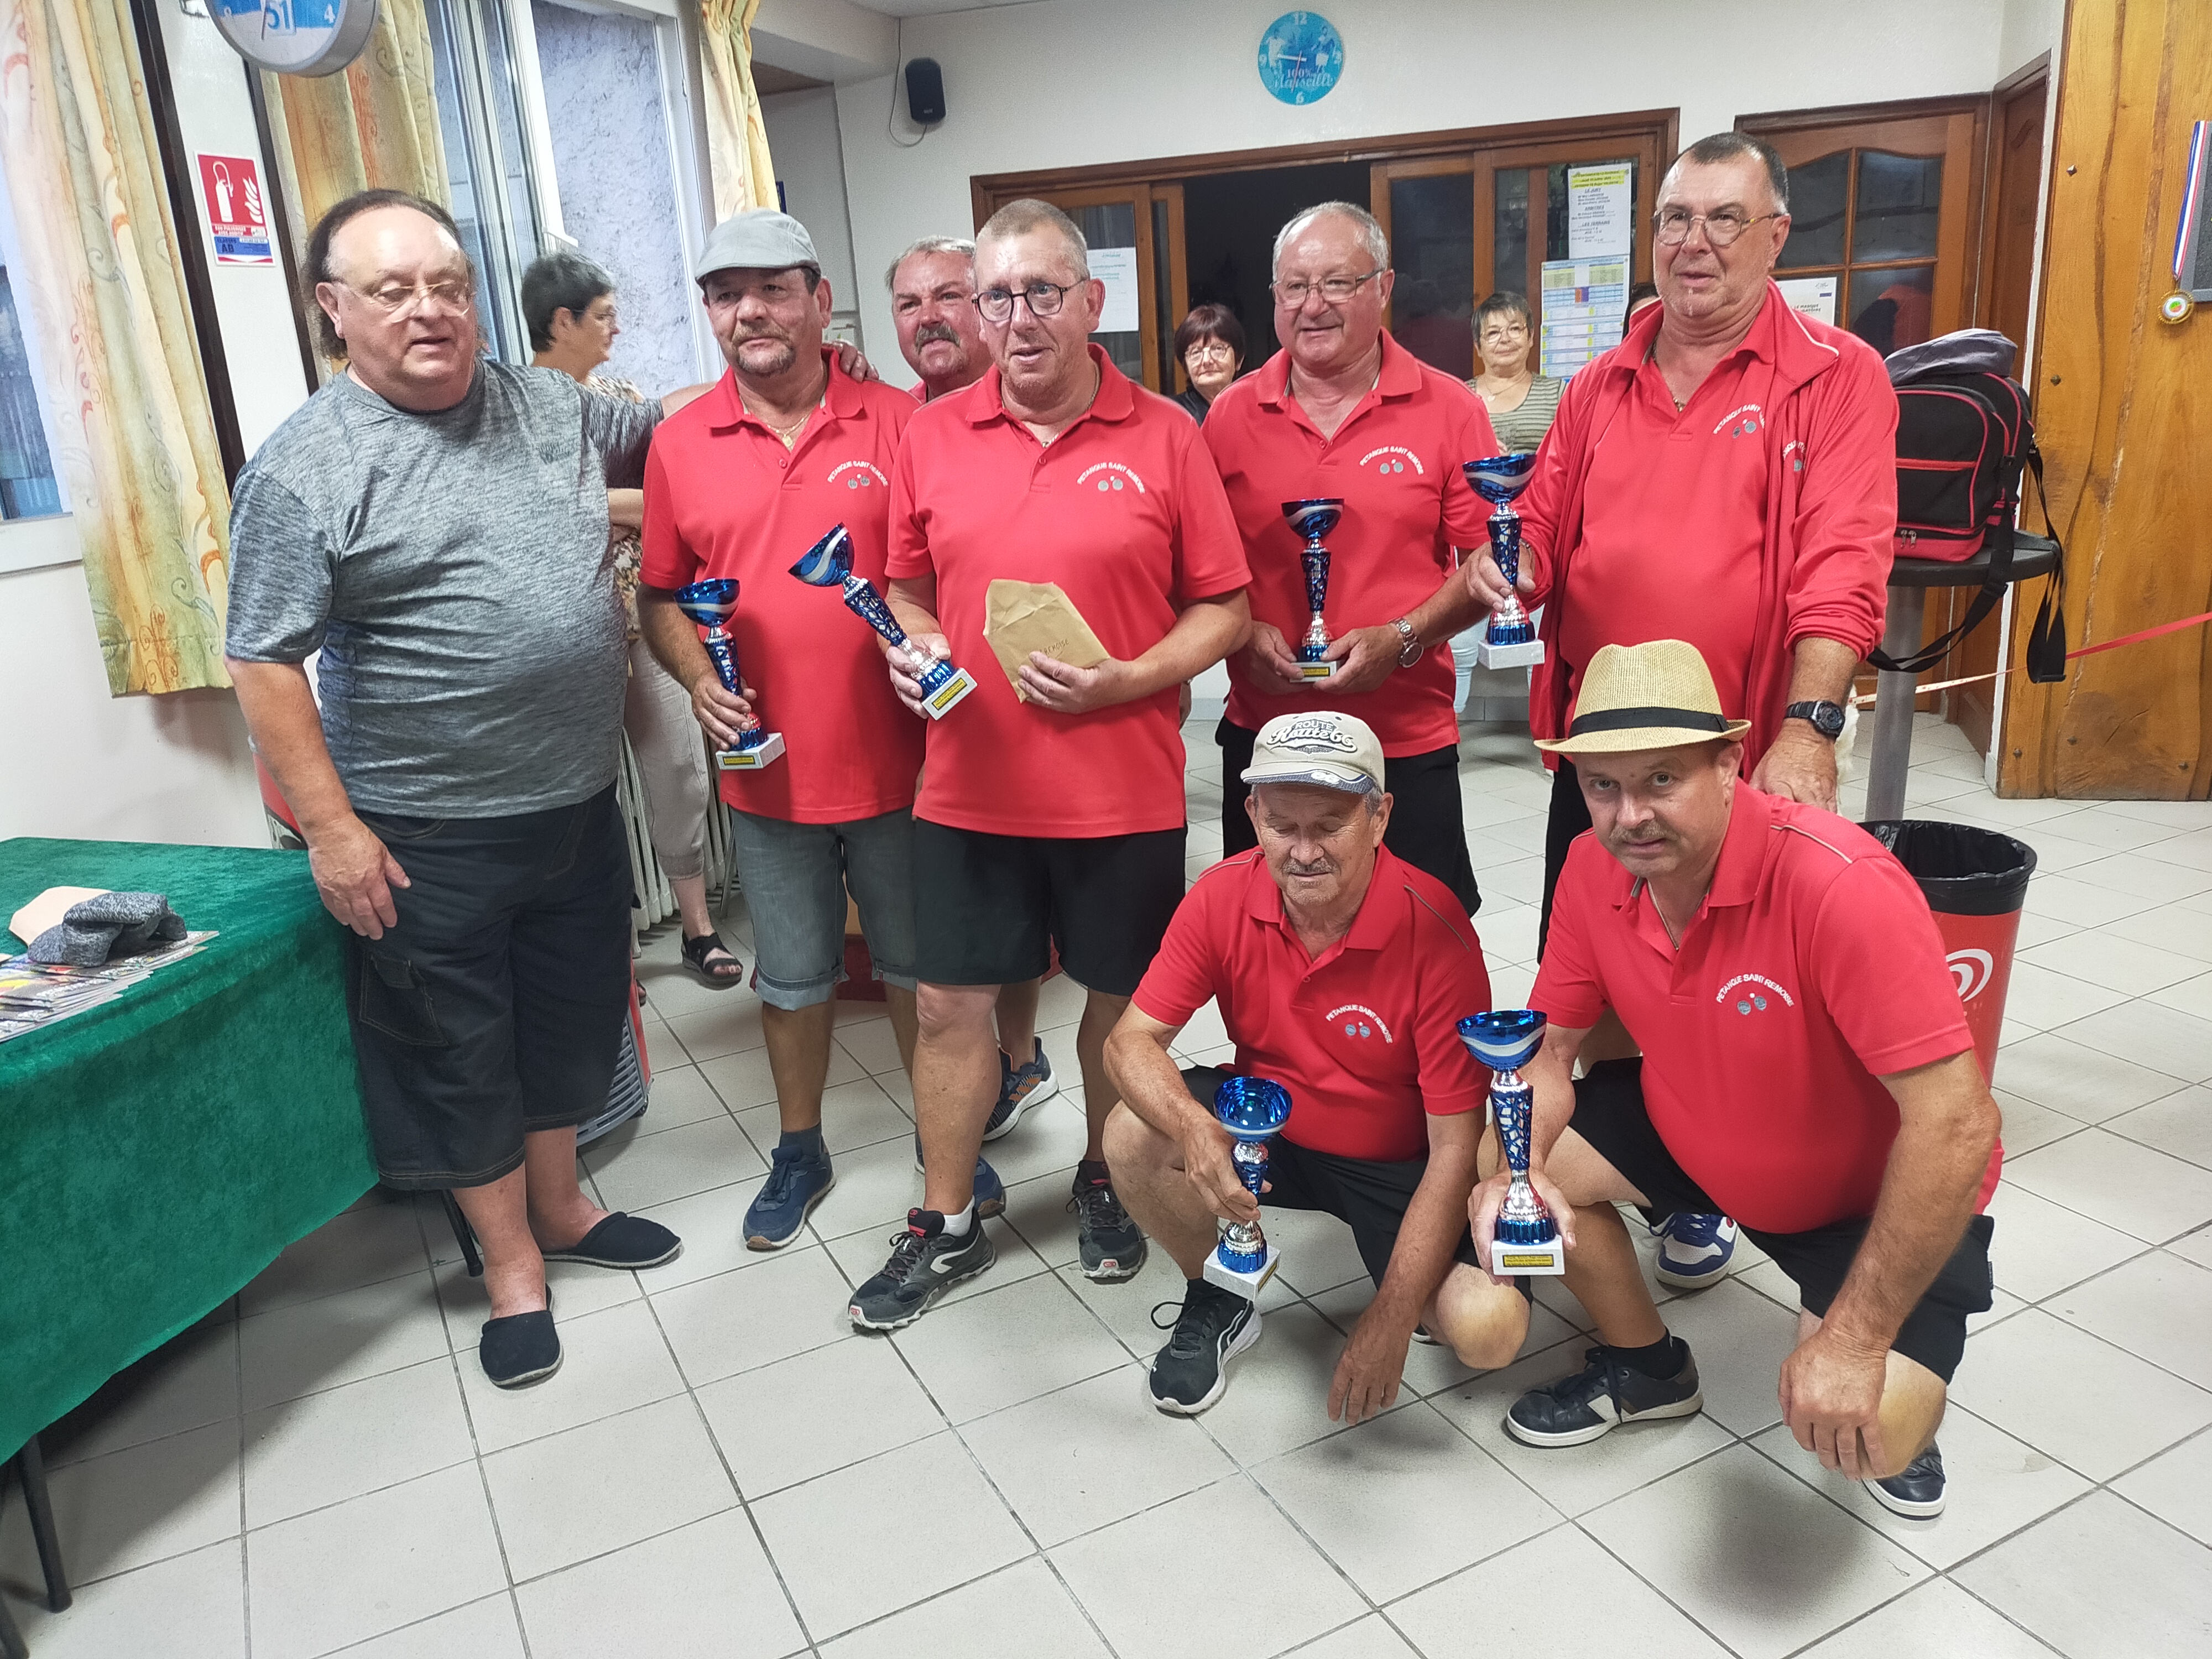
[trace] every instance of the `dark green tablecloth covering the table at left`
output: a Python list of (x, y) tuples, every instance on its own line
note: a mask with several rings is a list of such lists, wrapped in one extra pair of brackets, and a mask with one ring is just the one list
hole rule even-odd
[(0, 1044), (0, 1458), (376, 1181), (305, 854), (0, 841), (0, 922), (46, 887), (168, 894), (221, 938)]

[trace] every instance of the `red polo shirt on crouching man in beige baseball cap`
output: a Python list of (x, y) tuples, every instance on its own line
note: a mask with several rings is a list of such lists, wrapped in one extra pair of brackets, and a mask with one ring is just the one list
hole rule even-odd
[(1491, 1006), (1482, 945), (1451, 889), (1389, 847), (1352, 931), (1307, 956), (1259, 852), (1223, 858), (1183, 894), (1137, 1006), (1179, 1026), (1208, 1002), (1237, 1071), (1290, 1091), (1283, 1139), (1402, 1164), (1429, 1157), (1425, 1113), (1482, 1106), (1489, 1073), (1458, 1022)]

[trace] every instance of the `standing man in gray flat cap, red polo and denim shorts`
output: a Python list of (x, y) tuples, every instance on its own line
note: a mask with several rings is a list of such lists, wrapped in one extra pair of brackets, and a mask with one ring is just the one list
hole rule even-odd
[[(783, 1135), (745, 1212), (745, 1243), (790, 1243), (834, 1179), (823, 1084), (836, 982), (845, 978), (845, 891), (885, 982), (898, 1051), (914, 1053), (914, 774), (922, 734), (883, 677), (876, 635), (836, 591), (796, 582), (792, 562), (843, 524), (854, 571), (883, 580), (891, 465), (914, 400), (849, 378), (823, 349), (830, 283), (796, 219), (768, 208), (714, 228), (699, 292), (730, 358), (712, 392), (666, 422), (646, 462), (639, 615), (655, 655), (690, 686), (717, 748), (783, 732), (783, 757), (719, 772), (745, 872), (761, 1029)], [(730, 633), (745, 677), (723, 688), (675, 588), (737, 577)]]

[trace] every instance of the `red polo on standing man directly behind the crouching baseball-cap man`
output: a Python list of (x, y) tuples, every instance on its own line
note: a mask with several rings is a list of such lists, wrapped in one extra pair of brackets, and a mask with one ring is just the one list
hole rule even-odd
[[(1442, 586), (1453, 546), (1489, 546), (1491, 507), (1467, 484), (1460, 462), (1498, 453), (1482, 398), (1431, 369), (1389, 334), (1383, 376), (1323, 438), (1290, 396), (1290, 354), (1276, 352), (1206, 411), (1206, 447), (1237, 509), (1245, 562), (1252, 566), (1252, 617), (1283, 630), (1290, 648), (1305, 639), (1305, 538), (1290, 529), (1283, 502), (1340, 495), (1345, 515), (1323, 542), (1329, 549), (1329, 635), (1376, 628), (1402, 617)], [(1228, 717), (1259, 730), (1276, 714), (1340, 708), (1367, 721), (1391, 757), (1427, 754), (1460, 741), (1451, 712), (1451, 653), (1442, 641), (1411, 668), (1398, 668), (1371, 692), (1276, 697), (1259, 690), (1243, 653), (1230, 657)]]

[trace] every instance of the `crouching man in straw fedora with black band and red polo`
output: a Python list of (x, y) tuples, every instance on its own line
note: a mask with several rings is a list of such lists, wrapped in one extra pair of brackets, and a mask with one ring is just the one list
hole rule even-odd
[[(1900, 1515), (1944, 1502), (1942, 1420), (1966, 1318), (1989, 1307), (1997, 1106), (1927, 900), (1851, 823), (1739, 779), (1730, 719), (1681, 639), (1601, 646), (1575, 721), (1593, 834), (1559, 876), (1531, 1002), (1531, 1181), (1597, 1323), (1588, 1365), (1506, 1429), (1571, 1447), (1703, 1402), (1615, 1203), (1728, 1212), (1798, 1287), (1783, 1418)], [(1615, 1009), (1641, 1057), (1573, 1062)], [(1475, 1192), (1489, 1252), (1504, 1177)]]

